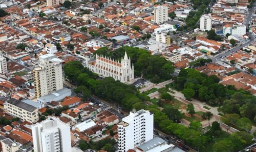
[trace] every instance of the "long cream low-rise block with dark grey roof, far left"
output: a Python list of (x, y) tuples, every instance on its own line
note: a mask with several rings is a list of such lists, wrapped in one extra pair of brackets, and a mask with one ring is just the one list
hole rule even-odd
[(14, 117), (20, 118), (22, 121), (31, 123), (39, 120), (38, 108), (16, 99), (9, 99), (4, 103), (5, 111)]

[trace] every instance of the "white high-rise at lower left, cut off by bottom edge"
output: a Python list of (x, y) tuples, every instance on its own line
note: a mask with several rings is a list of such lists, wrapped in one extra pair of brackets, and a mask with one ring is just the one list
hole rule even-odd
[(71, 152), (70, 127), (56, 117), (32, 125), (34, 152)]

